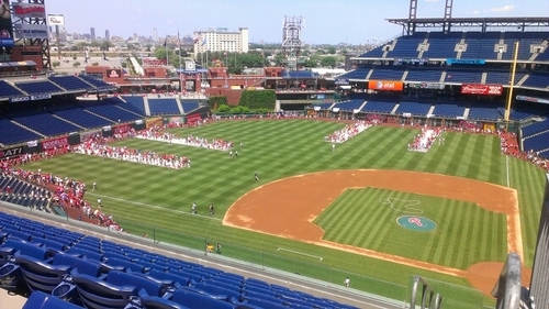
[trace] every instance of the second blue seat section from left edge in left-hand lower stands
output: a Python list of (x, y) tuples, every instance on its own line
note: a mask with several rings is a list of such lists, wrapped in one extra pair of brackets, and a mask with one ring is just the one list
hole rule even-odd
[(61, 135), (70, 132), (79, 132), (82, 130), (82, 128), (55, 118), (47, 112), (13, 117), (12, 119), (18, 123), (31, 130), (40, 132), (41, 134), (46, 136)]

